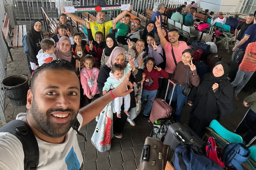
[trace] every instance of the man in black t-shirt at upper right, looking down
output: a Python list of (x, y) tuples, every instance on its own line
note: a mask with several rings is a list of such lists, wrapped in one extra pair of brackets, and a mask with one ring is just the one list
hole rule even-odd
[[(235, 30), (235, 37), (234, 37), (234, 41), (236, 41), (236, 44), (238, 44), (243, 35), (244, 35), (244, 32), (247, 30), (247, 28), (253, 24), (253, 19), (254, 19), (254, 15), (253, 14), (249, 14), (247, 17), (246, 17), (246, 22), (241, 22), (236, 30)], [(240, 30), (240, 33), (237, 35), (238, 31)], [(235, 44), (235, 45), (236, 45)]]

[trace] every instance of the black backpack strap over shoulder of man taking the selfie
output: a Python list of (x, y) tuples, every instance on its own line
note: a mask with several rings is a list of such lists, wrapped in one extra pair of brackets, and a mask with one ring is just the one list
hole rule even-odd
[(21, 120), (13, 120), (0, 128), (0, 132), (9, 132), (20, 140), (24, 151), (24, 170), (36, 170), (39, 148), (31, 128)]

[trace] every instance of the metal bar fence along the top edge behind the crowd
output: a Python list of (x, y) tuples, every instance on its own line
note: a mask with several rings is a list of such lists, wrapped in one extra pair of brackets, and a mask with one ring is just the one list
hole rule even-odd
[[(184, 2), (188, 4), (191, 0), (106, 0), (108, 5), (133, 4), (133, 10), (143, 13), (144, 8), (152, 9), (155, 2), (163, 2), (166, 8), (178, 7)], [(17, 21), (30, 24), (35, 18), (42, 19), (40, 8), (43, 7), (48, 17), (58, 18), (63, 6), (89, 6), (97, 5), (98, 0), (13, 0), (14, 13)], [(120, 11), (108, 12), (106, 20), (116, 17)]]

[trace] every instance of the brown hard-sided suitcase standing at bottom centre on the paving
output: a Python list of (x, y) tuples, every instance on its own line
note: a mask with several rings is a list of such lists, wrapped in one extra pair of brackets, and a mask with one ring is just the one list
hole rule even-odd
[(138, 170), (164, 170), (171, 150), (161, 140), (146, 137)]

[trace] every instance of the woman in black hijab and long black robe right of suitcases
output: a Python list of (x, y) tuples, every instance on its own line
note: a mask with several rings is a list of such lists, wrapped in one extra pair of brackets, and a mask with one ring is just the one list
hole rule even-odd
[(200, 137), (212, 120), (220, 120), (224, 108), (231, 108), (232, 112), (233, 88), (227, 79), (228, 72), (226, 62), (217, 62), (188, 96), (188, 104), (192, 106), (188, 125)]

